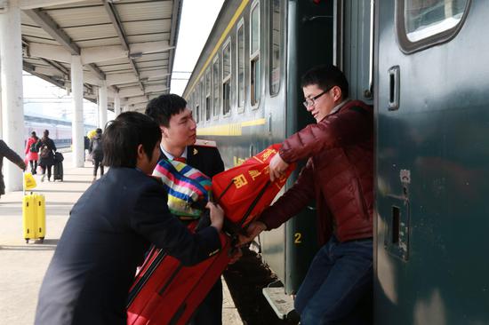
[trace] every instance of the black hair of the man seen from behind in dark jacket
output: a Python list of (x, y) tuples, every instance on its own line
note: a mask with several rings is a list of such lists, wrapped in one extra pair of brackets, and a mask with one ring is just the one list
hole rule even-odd
[(137, 112), (124, 112), (108, 127), (102, 136), (103, 164), (109, 167), (136, 167), (138, 146), (142, 145), (149, 159), (161, 140), (161, 131), (150, 117)]

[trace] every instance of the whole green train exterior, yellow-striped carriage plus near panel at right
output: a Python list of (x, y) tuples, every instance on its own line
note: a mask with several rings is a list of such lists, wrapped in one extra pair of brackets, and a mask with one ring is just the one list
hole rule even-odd
[[(255, 6), (260, 51), (251, 53)], [(300, 77), (309, 67), (338, 65), (351, 98), (374, 105), (375, 324), (489, 323), (488, 14), (482, 0), (225, 1), (184, 92), (202, 137), (217, 140), (228, 167), (314, 123), (301, 105)], [(228, 84), (221, 64), (227, 44)], [(216, 58), (219, 114), (207, 120), (213, 102), (204, 86), (196, 93)], [(222, 95), (228, 87), (229, 100)], [(298, 289), (317, 251), (314, 206), (260, 236), (263, 259), (286, 293)]]

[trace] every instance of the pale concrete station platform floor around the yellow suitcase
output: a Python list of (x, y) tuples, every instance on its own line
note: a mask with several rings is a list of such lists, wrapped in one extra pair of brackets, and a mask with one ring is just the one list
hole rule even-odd
[[(44, 194), (46, 200), (44, 243), (26, 244), (23, 238), (22, 192), (7, 193), (0, 198), (0, 325), (34, 323), (37, 294), (69, 210), (92, 184), (92, 163), (85, 163), (84, 168), (72, 168), (71, 154), (64, 155), (63, 182), (41, 182), (40, 176), (36, 176), (34, 191)], [(223, 324), (243, 324), (225, 281), (223, 284)]]

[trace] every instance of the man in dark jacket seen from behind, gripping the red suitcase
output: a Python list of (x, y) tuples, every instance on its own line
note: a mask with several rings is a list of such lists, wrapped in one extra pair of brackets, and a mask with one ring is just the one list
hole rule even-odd
[(125, 304), (136, 266), (150, 243), (185, 266), (220, 249), (224, 212), (209, 202), (211, 226), (188, 231), (150, 175), (161, 131), (148, 116), (125, 112), (104, 133), (108, 173), (73, 206), (44, 276), (36, 325), (127, 323)]

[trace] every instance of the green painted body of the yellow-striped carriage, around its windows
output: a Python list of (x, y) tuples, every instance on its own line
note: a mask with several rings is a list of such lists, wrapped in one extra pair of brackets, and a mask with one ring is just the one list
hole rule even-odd
[[(242, 4), (245, 4), (243, 11), (236, 18), (236, 12), (240, 11)], [(249, 53), (251, 12), (256, 5), (260, 8), (261, 21), (261, 95), (258, 104), (253, 106), (250, 93), (252, 87), (249, 82), (252, 77)], [(274, 9), (278, 12), (270, 19)], [(314, 123), (314, 120), (301, 104), (303, 98), (300, 78), (309, 67), (332, 62), (332, 14), (333, 4), (331, 2), (314, 4), (309, 1), (261, 0), (254, 2), (226, 1), (223, 4), (219, 17), (212, 28), (211, 36), (205, 44), (204, 51), (189, 79), (184, 97), (188, 99), (190, 107), (194, 109), (194, 115), (197, 115), (197, 106), (200, 109), (199, 117), (202, 117), (203, 113), (205, 114), (205, 100), (202, 98), (202, 92), (198, 96), (200, 100), (196, 100), (196, 93), (198, 92), (196, 88), (201, 80), (205, 83), (205, 71), (208, 68), (211, 69), (212, 73), (214, 59), (218, 58), (222, 62), (223, 49), (227, 42), (231, 44), (231, 57), (233, 58), (231, 60), (231, 88), (236, 90), (237, 30), (244, 25), (244, 108), (239, 108), (237, 105), (237, 91), (231, 91), (231, 111), (229, 115), (223, 115), (223, 86), (220, 84), (220, 115), (211, 116), (208, 121), (199, 118), (197, 123), (197, 130), (204, 131), (204, 134), (207, 133), (205, 135), (201, 133), (199, 138), (213, 139), (218, 142), (227, 167), (260, 152), (270, 144), (282, 142), (288, 135), (300, 130), (304, 125)], [(310, 20), (312, 17), (318, 18)], [(229, 22), (233, 18), (235, 22), (229, 26)], [(275, 28), (271, 28), (273, 21), (277, 21), (277, 18), (279, 18), (279, 22), (276, 22)], [(227, 28), (228, 33), (226, 33)], [(275, 36), (272, 36), (273, 33)], [(274, 74), (271, 71), (273, 66), (271, 62), (273, 45), (269, 42), (271, 37), (275, 37), (280, 44), (278, 46), (278, 57), (280, 58), (278, 77), (277, 72)], [(214, 51), (216, 44), (220, 44), (217, 52)], [(214, 53), (209, 60), (212, 52)], [(274, 54), (277, 56), (277, 53)], [(206, 62), (207, 66), (205, 65)], [(222, 75), (222, 64), (220, 64), (220, 69), (219, 75)], [(270, 79), (274, 77), (278, 78), (279, 82), (278, 85), (274, 86), (276, 88), (272, 89)], [(202, 87), (205, 88), (205, 86)], [(276, 91), (277, 88), (278, 91)], [(232, 124), (236, 126), (236, 123), (250, 121), (258, 123), (258, 125), (242, 126), (240, 132), (235, 132), (239, 135), (216, 135), (222, 130), (212, 134), (212, 130), (216, 130), (212, 127), (216, 125)], [(233, 132), (228, 131), (228, 133)], [(293, 184), (293, 179), (297, 177), (297, 174), (298, 170), (289, 180), (287, 186)], [(291, 219), (276, 231), (266, 232), (260, 236), (259, 244), (262, 257), (284, 282), (287, 293), (293, 293), (299, 288), (310, 261), (317, 251), (316, 229), (314, 202), (311, 202), (310, 209), (304, 210), (300, 216)]]

